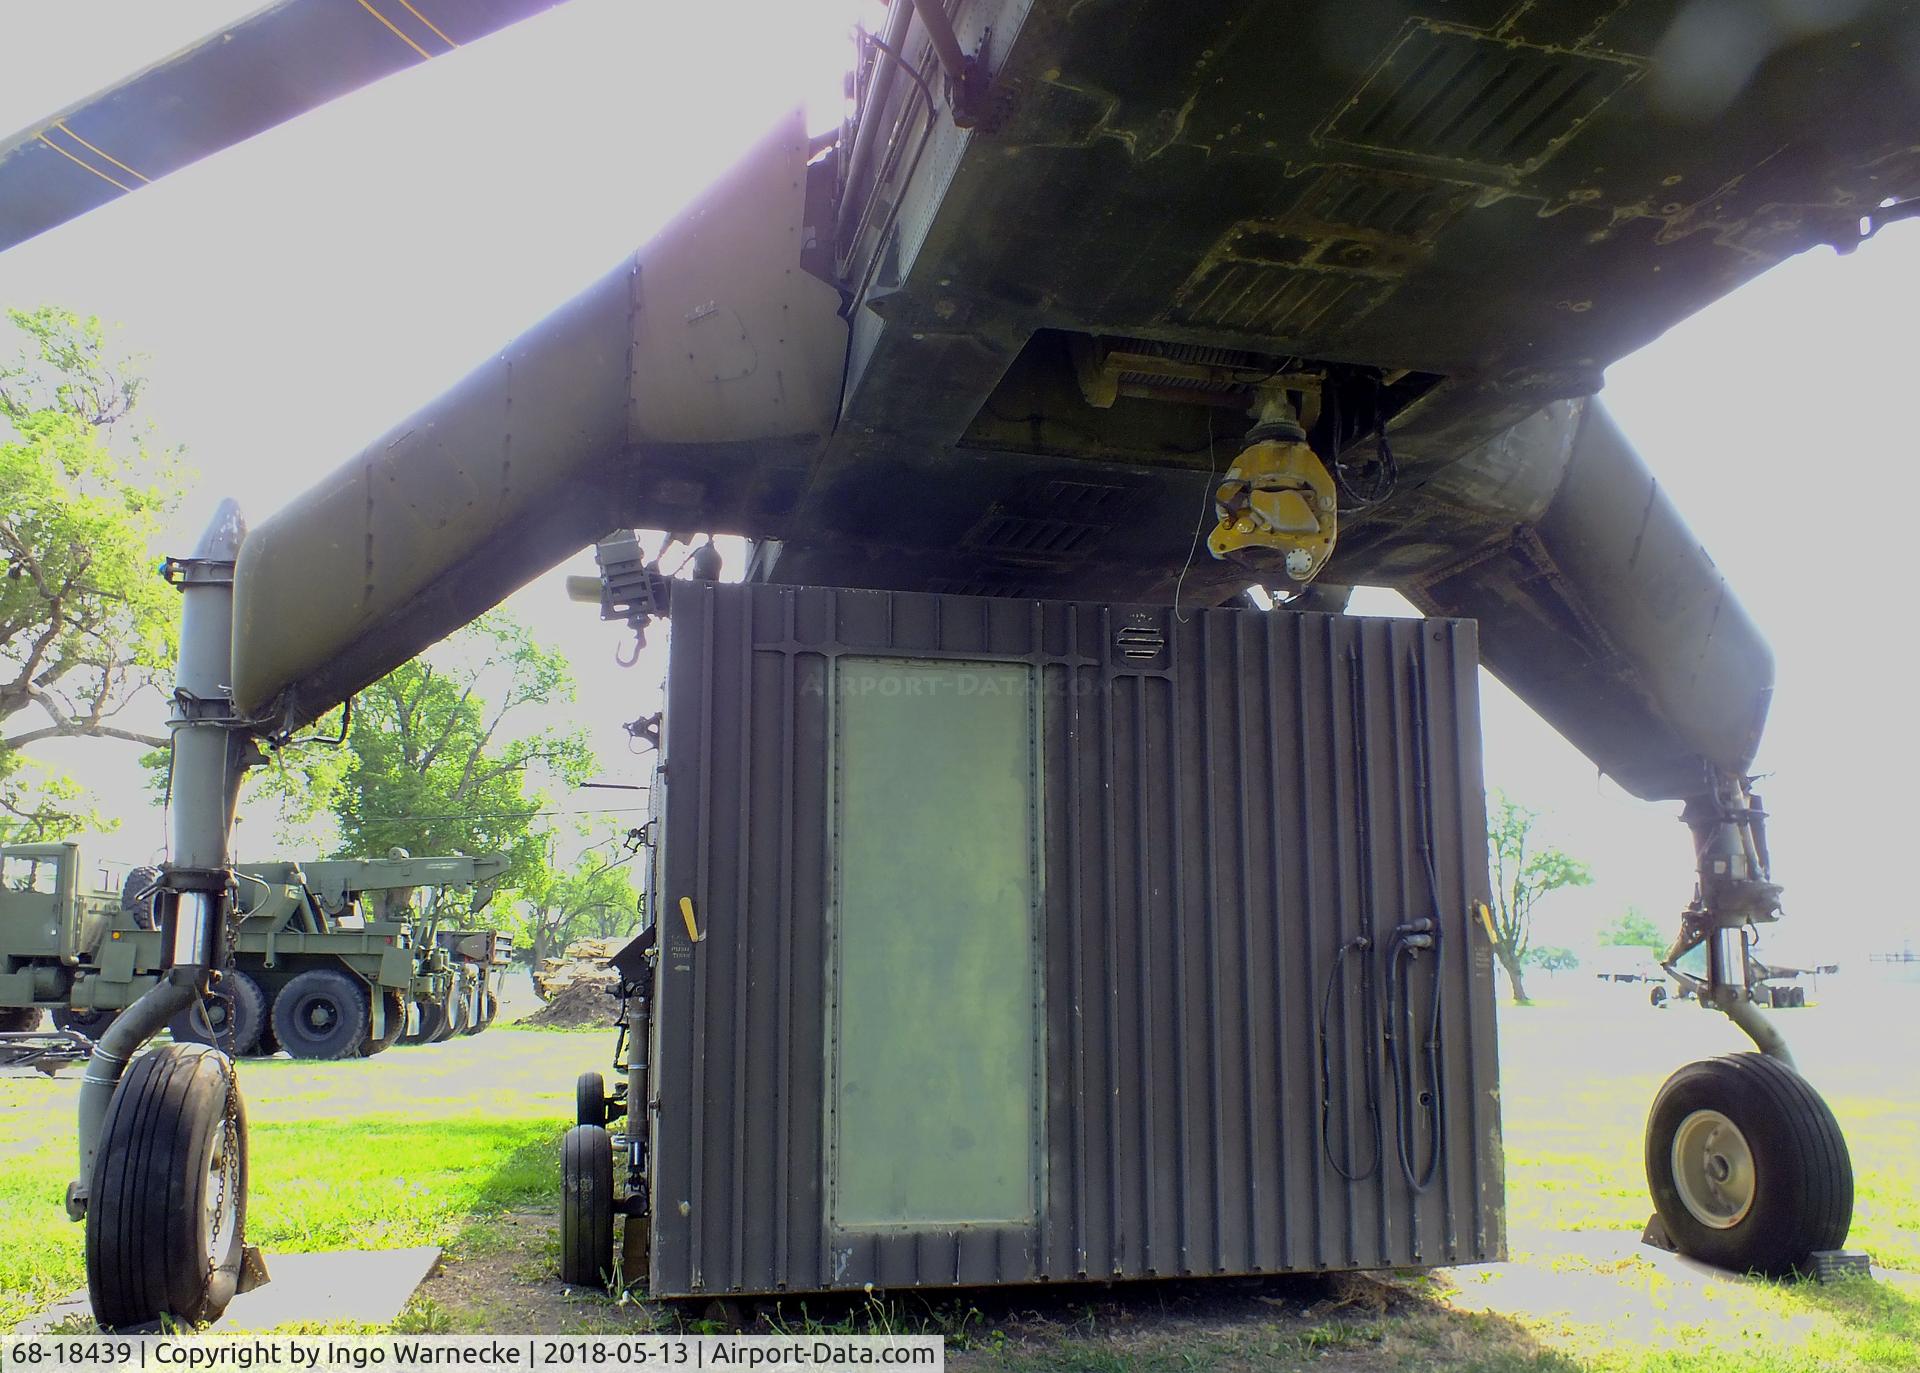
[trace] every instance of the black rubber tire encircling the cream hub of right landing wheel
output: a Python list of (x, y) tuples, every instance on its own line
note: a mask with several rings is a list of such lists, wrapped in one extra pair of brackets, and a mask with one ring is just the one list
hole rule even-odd
[[(1728, 1229), (1699, 1221), (1674, 1187), (1674, 1135), (1697, 1110), (1726, 1116), (1753, 1154), (1753, 1204)], [(1667, 1079), (1647, 1116), (1647, 1191), (1682, 1254), (1738, 1273), (1801, 1271), (1814, 1250), (1841, 1248), (1853, 1221), (1853, 1160), (1834, 1112), (1764, 1054), (1707, 1058)]]

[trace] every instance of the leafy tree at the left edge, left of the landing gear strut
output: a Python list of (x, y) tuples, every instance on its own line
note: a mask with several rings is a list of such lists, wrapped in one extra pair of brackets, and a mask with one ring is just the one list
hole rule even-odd
[(119, 724), (171, 657), (177, 597), (150, 545), (179, 505), (179, 455), (129, 432), (140, 376), (98, 319), (8, 311), (0, 359), (0, 837), (96, 820), (21, 751), (56, 737), (159, 745)]

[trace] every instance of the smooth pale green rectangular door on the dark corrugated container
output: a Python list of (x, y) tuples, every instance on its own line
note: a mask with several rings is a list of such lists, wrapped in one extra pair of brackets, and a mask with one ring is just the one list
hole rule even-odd
[(1035, 687), (1020, 662), (839, 659), (835, 1231), (1035, 1221), (1044, 1025)]

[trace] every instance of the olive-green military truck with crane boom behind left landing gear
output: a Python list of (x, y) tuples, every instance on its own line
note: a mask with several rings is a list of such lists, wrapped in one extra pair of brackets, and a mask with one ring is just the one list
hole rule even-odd
[[(440, 929), (422, 887), (470, 887), (486, 906), (503, 858), (324, 858), (240, 864), (232, 968), (180, 1010), (173, 1037), (236, 1054), (351, 1058), (403, 1037), (436, 1043), (486, 1029), (511, 941)], [(106, 1033), (165, 966), (152, 918), (156, 870), (119, 893), (88, 891), (73, 843), (0, 849), (0, 1031)]]

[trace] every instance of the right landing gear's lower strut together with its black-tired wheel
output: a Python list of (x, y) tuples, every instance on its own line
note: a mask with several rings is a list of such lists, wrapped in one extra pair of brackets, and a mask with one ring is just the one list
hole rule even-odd
[[(1761, 1052), (1688, 1064), (1653, 1098), (1647, 1239), (1736, 1271), (1826, 1271), (1853, 1219), (1853, 1162), (1834, 1112), (1753, 999), (1747, 929), (1780, 918), (1766, 810), (1747, 778), (1713, 774), (1707, 783), (1682, 812), (1697, 885), (1665, 966)], [(1701, 945), (1707, 976), (1680, 972)]]

